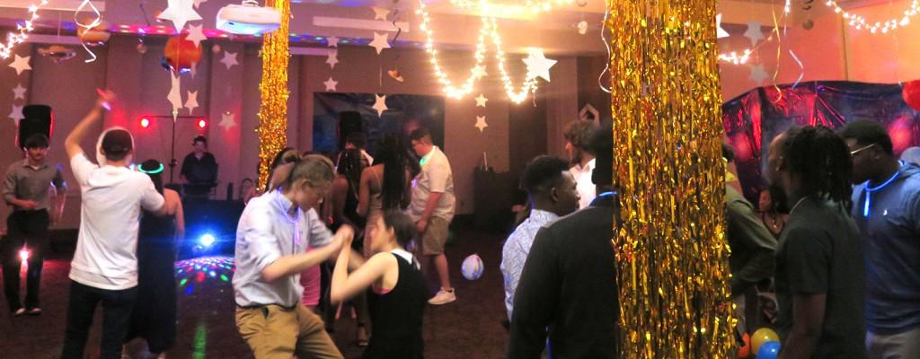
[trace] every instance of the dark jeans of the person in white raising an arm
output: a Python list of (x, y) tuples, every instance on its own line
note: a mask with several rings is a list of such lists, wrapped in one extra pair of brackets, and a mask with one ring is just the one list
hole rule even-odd
[(70, 283), (67, 303), (67, 331), (63, 339), (63, 359), (83, 358), (86, 337), (93, 325), (96, 306), (102, 302), (101, 359), (121, 359), (121, 344), (131, 323), (131, 310), (137, 299), (137, 287), (124, 290), (106, 290)]

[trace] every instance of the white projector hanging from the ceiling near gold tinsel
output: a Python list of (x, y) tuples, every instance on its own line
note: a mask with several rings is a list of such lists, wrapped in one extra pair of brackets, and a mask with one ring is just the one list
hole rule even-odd
[(236, 35), (259, 35), (281, 28), (282, 13), (255, 0), (228, 5), (217, 12), (217, 28)]

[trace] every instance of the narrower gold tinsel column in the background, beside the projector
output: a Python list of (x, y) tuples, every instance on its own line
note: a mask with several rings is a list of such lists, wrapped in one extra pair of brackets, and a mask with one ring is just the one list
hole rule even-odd
[(287, 145), (287, 67), (288, 25), (291, 21), (290, 0), (266, 0), (282, 13), (282, 27), (265, 35), (262, 44), (262, 82), (259, 93), (259, 188), (268, 181), (271, 159)]

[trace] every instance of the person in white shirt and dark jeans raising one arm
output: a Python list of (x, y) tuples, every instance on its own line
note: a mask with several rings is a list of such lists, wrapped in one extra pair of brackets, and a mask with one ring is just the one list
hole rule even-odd
[(96, 158), (86, 158), (80, 141), (114, 98), (100, 93), (96, 106), (64, 141), (80, 185), (80, 231), (71, 262), (67, 331), (62, 358), (82, 358), (93, 313), (102, 303), (101, 358), (121, 358), (121, 344), (137, 297), (137, 229), (141, 208), (162, 215), (164, 199), (146, 174), (128, 169), (134, 141), (126, 129), (99, 136)]

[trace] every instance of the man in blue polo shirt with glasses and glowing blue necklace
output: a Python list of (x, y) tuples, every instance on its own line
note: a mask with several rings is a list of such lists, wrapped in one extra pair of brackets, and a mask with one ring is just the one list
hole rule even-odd
[(920, 167), (899, 163), (879, 123), (841, 137), (853, 159), (853, 217), (866, 258), (870, 358), (920, 358)]

